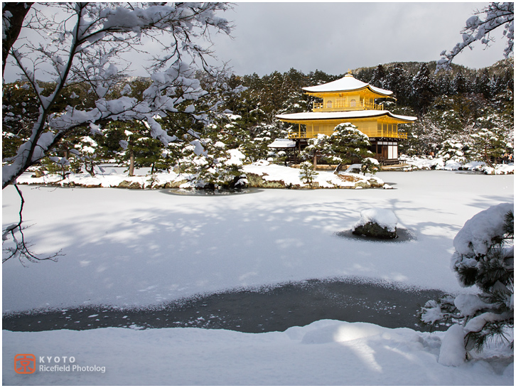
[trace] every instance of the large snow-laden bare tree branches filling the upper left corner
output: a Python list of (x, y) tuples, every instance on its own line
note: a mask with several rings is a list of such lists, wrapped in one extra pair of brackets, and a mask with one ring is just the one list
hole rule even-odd
[[(7, 61), (36, 93), (39, 115), (31, 136), (16, 156), (2, 168), (2, 188), (13, 183), (28, 167), (41, 160), (61, 139), (81, 126), (102, 124), (110, 120), (141, 120), (151, 127), (151, 135), (163, 144), (175, 140), (156, 121), (157, 116), (180, 112), (181, 103), (197, 100), (208, 92), (195, 79), (202, 68), (216, 77), (218, 68), (206, 62), (208, 50), (195, 44), (198, 38), (210, 38), (215, 32), (231, 31), (230, 23), (217, 16), (228, 9), (224, 3), (54, 3), (33, 4), (21, 17), (23, 28), (40, 33), (41, 42), (16, 40)], [(5, 9), (5, 6), (4, 6)], [(20, 18), (15, 11), (4, 12), (3, 31), (10, 21)], [(7, 33), (3, 34), (3, 42)], [(131, 50), (145, 53), (149, 39), (163, 48), (163, 55), (151, 61), (152, 83), (142, 99), (111, 97), (123, 72), (119, 70), (122, 53)], [(6, 55), (4, 55), (4, 59)], [(43, 92), (38, 79), (43, 72), (51, 75), (54, 89)], [(87, 82), (97, 98), (95, 107), (79, 109), (68, 106), (55, 112), (55, 103), (69, 85)], [(122, 86), (123, 87), (123, 86)], [(184, 104), (183, 104), (184, 105)], [(183, 107), (181, 105), (181, 107)], [(191, 108), (187, 114), (194, 119)]]

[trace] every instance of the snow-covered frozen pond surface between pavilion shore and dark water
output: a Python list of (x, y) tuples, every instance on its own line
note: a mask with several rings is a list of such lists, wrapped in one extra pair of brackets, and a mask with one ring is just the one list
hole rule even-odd
[[(514, 176), (378, 176), (396, 190), (268, 189), (201, 198), (163, 190), (22, 186), (24, 220), (31, 225), (26, 239), (38, 254), (63, 249), (65, 256), (26, 266), (4, 263), (3, 311), (130, 310), (306, 279), (461, 292), (450, 269), (453, 238), (476, 213), (513, 201)], [(14, 188), (3, 190), (2, 201), (4, 226), (10, 225), (19, 206)], [(367, 208), (392, 210), (411, 238), (378, 243), (340, 237)], [(181, 321), (212, 313), (195, 311)], [(134, 318), (135, 325), (143, 323)]]

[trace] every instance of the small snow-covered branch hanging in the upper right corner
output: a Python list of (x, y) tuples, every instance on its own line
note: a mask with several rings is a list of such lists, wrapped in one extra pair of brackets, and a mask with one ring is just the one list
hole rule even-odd
[[(484, 15), (485, 18), (480, 18), (478, 15)], [(514, 2), (490, 3), (482, 11), (477, 11), (474, 16), (468, 18), (466, 27), (461, 31), (462, 42), (457, 43), (449, 53), (446, 50), (441, 53), (436, 72), (440, 69), (448, 69), (458, 53), (466, 47), (472, 49), (472, 43), (480, 41), (488, 46), (493, 41), (490, 33), (502, 26), (503, 36), (507, 38), (504, 55), (508, 58), (514, 52)]]

